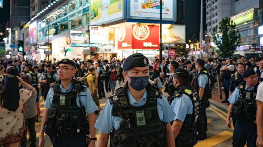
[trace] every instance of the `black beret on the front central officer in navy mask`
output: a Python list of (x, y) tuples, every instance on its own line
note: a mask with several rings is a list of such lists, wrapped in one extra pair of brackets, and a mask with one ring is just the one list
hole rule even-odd
[(132, 54), (126, 58), (123, 63), (123, 70), (129, 70), (133, 67), (146, 67), (149, 65), (148, 59), (141, 53)]

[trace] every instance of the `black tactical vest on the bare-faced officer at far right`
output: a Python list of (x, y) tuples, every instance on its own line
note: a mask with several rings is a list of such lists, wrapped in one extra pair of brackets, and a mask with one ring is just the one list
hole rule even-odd
[(257, 115), (257, 102), (256, 95), (258, 84), (254, 86), (254, 90), (245, 90), (245, 83), (241, 83), (237, 88), (239, 89), (239, 96), (237, 101), (231, 108), (231, 117), (235, 120), (256, 120)]

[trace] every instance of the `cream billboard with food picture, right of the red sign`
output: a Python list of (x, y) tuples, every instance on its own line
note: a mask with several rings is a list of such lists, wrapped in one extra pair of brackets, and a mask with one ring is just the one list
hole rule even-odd
[(163, 43), (185, 43), (185, 25), (172, 26), (162, 29), (161, 39)]

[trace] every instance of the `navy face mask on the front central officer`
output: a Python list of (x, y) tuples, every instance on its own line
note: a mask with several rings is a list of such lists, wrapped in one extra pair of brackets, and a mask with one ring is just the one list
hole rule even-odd
[[(128, 74), (127, 74), (128, 76)], [(128, 76), (129, 77), (129, 76)], [(142, 89), (145, 89), (147, 84), (149, 83), (149, 76), (143, 76), (143, 77), (129, 77), (131, 79), (130, 86), (136, 90), (141, 91)]]

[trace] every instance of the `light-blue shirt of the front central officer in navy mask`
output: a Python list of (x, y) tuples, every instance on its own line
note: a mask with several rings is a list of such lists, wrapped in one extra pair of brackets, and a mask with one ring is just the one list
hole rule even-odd
[[(134, 99), (129, 89), (128, 89), (127, 94), (130, 100), (130, 104), (132, 106), (135, 106), (135, 107), (142, 106), (147, 101), (146, 99), (147, 91), (146, 90), (144, 94), (142, 95), (142, 99), (139, 102), (137, 102)], [(171, 106), (168, 104), (164, 96), (162, 97), (162, 99), (157, 98), (157, 110), (158, 110), (159, 118), (161, 121), (170, 123), (175, 118), (175, 112), (171, 109)], [(120, 117), (112, 116), (112, 105), (110, 104), (109, 101), (107, 101), (94, 127), (103, 133), (109, 134), (112, 130), (112, 127), (114, 127), (115, 130), (117, 130), (120, 127), (121, 119), (122, 119), (122, 116)]]

